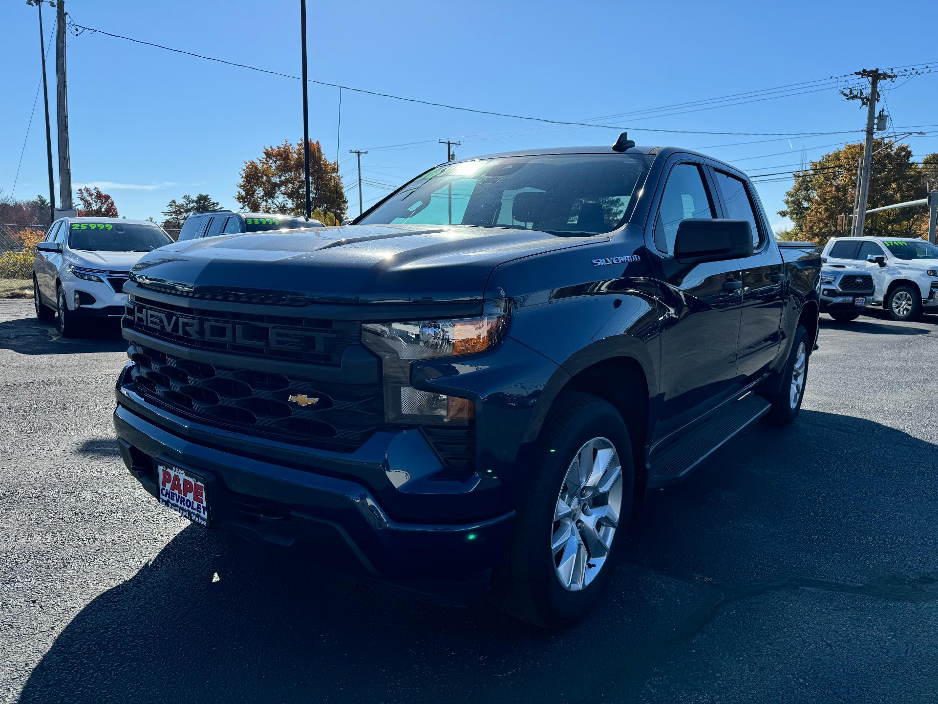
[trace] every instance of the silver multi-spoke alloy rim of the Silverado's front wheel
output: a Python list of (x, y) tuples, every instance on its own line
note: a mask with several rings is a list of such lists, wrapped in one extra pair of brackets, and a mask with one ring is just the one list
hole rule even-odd
[(568, 591), (596, 579), (609, 558), (622, 510), (622, 467), (613, 443), (594, 437), (567, 467), (551, 530), (553, 572)]

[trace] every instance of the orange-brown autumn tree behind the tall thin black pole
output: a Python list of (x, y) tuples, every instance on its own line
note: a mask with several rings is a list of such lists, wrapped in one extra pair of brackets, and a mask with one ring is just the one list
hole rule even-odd
[[(306, 172), (303, 143), (284, 140), (266, 146), (260, 159), (244, 162), (234, 199), (245, 210), (285, 215), (306, 214)], [(310, 201), (313, 208), (339, 220), (348, 202), (342, 190), (339, 168), (323, 156), (319, 142), (310, 142)]]

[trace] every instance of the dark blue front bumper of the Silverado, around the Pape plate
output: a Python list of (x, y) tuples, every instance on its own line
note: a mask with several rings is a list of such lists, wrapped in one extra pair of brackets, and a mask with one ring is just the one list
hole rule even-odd
[[(297, 466), (278, 461), (276, 453), (262, 459), (239, 448), (193, 441), (194, 436), (177, 435), (131, 410), (132, 396), (118, 382), (113, 422), (131, 475), (154, 497), (157, 460), (203, 477), (214, 528), (257, 543), (316, 543), (317, 562), (325, 567), (460, 602), (487, 584), (488, 570), (510, 539), (513, 512), (460, 523), (395, 520), (364, 482), (317, 470), (328, 465), (329, 453), (304, 448), (308, 464)], [(200, 428), (189, 424), (189, 430)], [(357, 464), (363, 476), (380, 470), (380, 465)]]

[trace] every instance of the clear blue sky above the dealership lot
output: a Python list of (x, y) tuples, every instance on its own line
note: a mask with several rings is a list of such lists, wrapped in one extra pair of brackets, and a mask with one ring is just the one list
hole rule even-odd
[[(193, 3), (67, 0), (76, 23), (299, 74), (299, 2)], [(920, 2), (488, 2), (309, 0), (310, 78), (402, 96), (521, 115), (585, 120), (825, 79), (856, 69), (935, 61), (919, 31), (933, 4)], [(44, 8), (47, 33), (53, 10)], [(13, 189), (38, 80), (38, 22), (23, 0), (3, 0), (0, 65), (0, 188)], [(917, 20), (915, 18), (918, 18)], [(861, 38), (870, 30), (872, 41)], [(50, 54), (54, 146), (54, 52)], [(894, 125), (938, 123), (938, 72), (886, 93)], [(299, 81), (236, 69), (85, 32), (68, 36), (72, 178), (113, 195), (122, 215), (160, 218), (171, 198), (207, 192), (237, 208), (243, 162), (265, 145), (302, 134)], [(807, 156), (859, 133), (791, 139), (666, 134), (642, 130), (810, 132), (858, 130), (864, 112), (833, 84), (682, 115), (610, 118), (640, 144), (695, 148), (751, 175), (790, 171)], [(310, 137), (336, 156), (338, 89), (310, 85)], [(768, 96), (758, 96), (764, 98)], [(709, 107), (709, 106), (705, 106)], [(685, 108), (684, 110), (688, 110)], [(17, 197), (48, 196), (42, 97), (16, 184)], [(925, 128), (935, 130), (938, 128)], [(492, 134), (495, 132), (496, 134)], [(446, 159), (437, 139), (463, 144), (460, 158), (525, 147), (611, 144), (616, 130), (571, 129), (474, 115), (344, 91), (340, 168), (357, 213), (354, 157), (369, 149), (364, 176), (396, 185)], [(475, 136), (473, 136), (475, 135)], [(482, 135), (482, 136), (480, 136)], [(920, 159), (938, 131), (908, 140)], [(736, 144), (760, 140), (758, 144)], [(431, 144), (379, 149), (419, 141)], [(803, 153), (802, 150), (805, 150)], [(759, 185), (775, 213), (791, 181)], [(366, 186), (366, 207), (388, 189)]]

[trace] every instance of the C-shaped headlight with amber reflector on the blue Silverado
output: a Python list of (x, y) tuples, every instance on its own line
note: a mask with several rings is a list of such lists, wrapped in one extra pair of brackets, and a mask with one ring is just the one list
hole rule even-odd
[(475, 416), (472, 401), (413, 388), (411, 365), (482, 352), (498, 344), (506, 327), (505, 301), (491, 304), (475, 318), (363, 325), (362, 343), (381, 357), (384, 366), (385, 420), (468, 423)]

